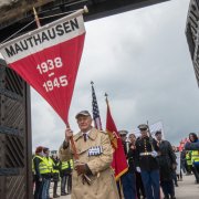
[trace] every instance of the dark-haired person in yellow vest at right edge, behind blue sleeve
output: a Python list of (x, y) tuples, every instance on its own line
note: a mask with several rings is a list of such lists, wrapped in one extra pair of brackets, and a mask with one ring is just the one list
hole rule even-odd
[[(191, 143), (198, 143), (198, 136), (195, 133), (189, 134)], [(199, 184), (199, 150), (191, 150), (192, 172), (196, 177), (196, 184)]]

